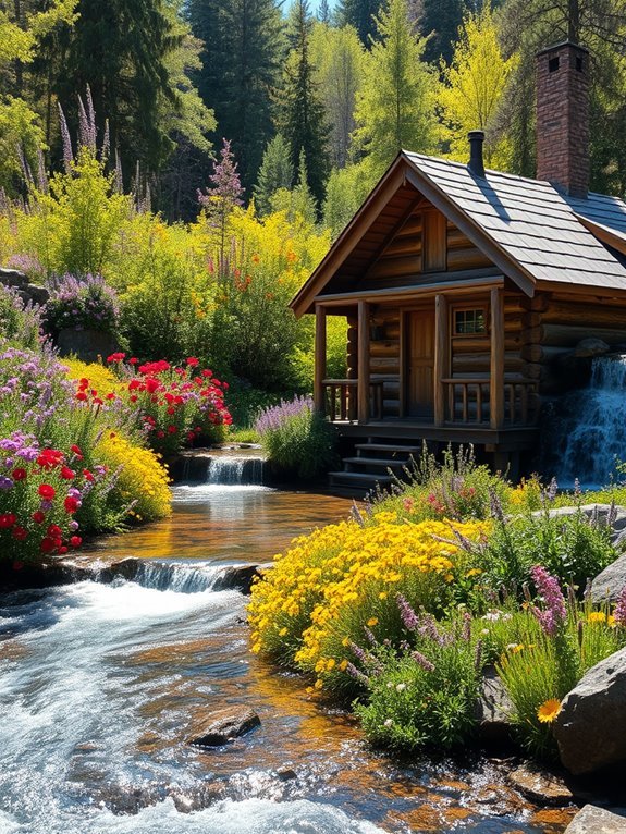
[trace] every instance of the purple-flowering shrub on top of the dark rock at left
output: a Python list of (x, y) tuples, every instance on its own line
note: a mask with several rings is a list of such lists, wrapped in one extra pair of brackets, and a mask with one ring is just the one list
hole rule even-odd
[(58, 333), (67, 328), (116, 333), (120, 318), (118, 296), (101, 275), (52, 278), (48, 290), (50, 298), (44, 308), (44, 316), (49, 332)]

